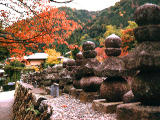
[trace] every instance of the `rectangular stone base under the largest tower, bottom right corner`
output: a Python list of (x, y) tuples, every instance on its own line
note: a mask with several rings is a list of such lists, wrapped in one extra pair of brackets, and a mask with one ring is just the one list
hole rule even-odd
[(117, 120), (160, 120), (160, 106), (143, 106), (140, 102), (117, 106)]

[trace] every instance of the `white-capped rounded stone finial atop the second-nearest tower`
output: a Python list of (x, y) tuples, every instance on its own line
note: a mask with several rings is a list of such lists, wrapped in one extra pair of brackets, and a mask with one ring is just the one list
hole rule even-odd
[(105, 53), (107, 56), (119, 56), (121, 54), (122, 40), (115, 34), (108, 36), (105, 40)]

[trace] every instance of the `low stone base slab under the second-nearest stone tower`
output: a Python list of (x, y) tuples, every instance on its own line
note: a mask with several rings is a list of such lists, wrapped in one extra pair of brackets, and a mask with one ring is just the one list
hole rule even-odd
[(95, 111), (103, 113), (115, 113), (118, 105), (123, 104), (123, 102), (110, 102), (107, 103), (106, 99), (94, 100), (92, 103), (92, 108)]

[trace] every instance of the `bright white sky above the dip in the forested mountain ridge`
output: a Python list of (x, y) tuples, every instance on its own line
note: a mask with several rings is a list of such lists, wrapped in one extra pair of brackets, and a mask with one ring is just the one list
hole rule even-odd
[[(64, 1), (64, 0), (57, 0), (57, 1)], [(76, 9), (86, 9), (89, 11), (98, 11), (105, 9), (107, 7), (113, 6), (116, 2), (119, 2), (120, 0), (74, 0), (71, 3), (67, 4), (55, 4), (52, 2), (53, 5), (56, 6), (68, 6), (71, 8)]]

